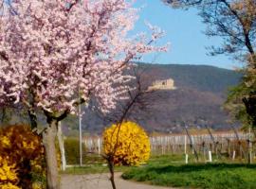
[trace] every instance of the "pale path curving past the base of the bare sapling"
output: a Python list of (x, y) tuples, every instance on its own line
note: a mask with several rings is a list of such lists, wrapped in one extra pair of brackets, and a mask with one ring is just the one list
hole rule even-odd
[[(116, 174), (118, 189), (172, 189), (170, 187), (152, 186), (134, 181), (122, 180), (120, 173)], [(107, 174), (97, 175), (63, 175), (61, 189), (112, 189)]]

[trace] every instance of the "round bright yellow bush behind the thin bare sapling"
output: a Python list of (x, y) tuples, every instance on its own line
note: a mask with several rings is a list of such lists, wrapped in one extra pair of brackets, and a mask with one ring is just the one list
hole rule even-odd
[(103, 150), (106, 156), (114, 154), (115, 164), (138, 165), (150, 157), (150, 140), (144, 129), (127, 121), (104, 130)]

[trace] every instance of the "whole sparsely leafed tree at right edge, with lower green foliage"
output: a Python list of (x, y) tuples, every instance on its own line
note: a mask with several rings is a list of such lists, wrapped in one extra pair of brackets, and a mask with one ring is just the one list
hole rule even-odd
[[(210, 46), (210, 55), (226, 54), (244, 62), (241, 83), (230, 93), (231, 107), (236, 117), (243, 112), (248, 122), (256, 126), (256, 1), (255, 0), (162, 0), (173, 8), (196, 8), (207, 25), (206, 35), (221, 37), (219, 47)], [(236, 110), (233, 110), (236, 109)], [(242, 111), (241, 111), (242, 110)], [(244, 113), (245, 114), (245, 113)], [(243, 117), (245, 119), (245, 116)]]

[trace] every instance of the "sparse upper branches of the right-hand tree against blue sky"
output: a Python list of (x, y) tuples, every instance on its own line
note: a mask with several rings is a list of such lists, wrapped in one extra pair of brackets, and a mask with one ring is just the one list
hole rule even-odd
[(211, 47), (211, 55), (231, 54), (252, 61), (255, 68), (256, 1), (255, 0), (163, 0), (174, 8), (195, 7), (208, 26), (206, 34), (220, 36), (220, 47)]

